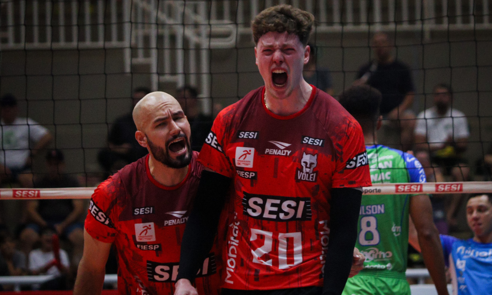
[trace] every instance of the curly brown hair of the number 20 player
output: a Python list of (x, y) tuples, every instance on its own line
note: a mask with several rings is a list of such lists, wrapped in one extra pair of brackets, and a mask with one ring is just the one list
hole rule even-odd
[(251, 22), (251, 29), (255, 44), (258, 44), (260, 37), (268, 32), (286, 31), (298, 35), (301, 43), (306, 46), (313, 25), (314, 16), (311, 13), (281, 4), (260, 12)]

